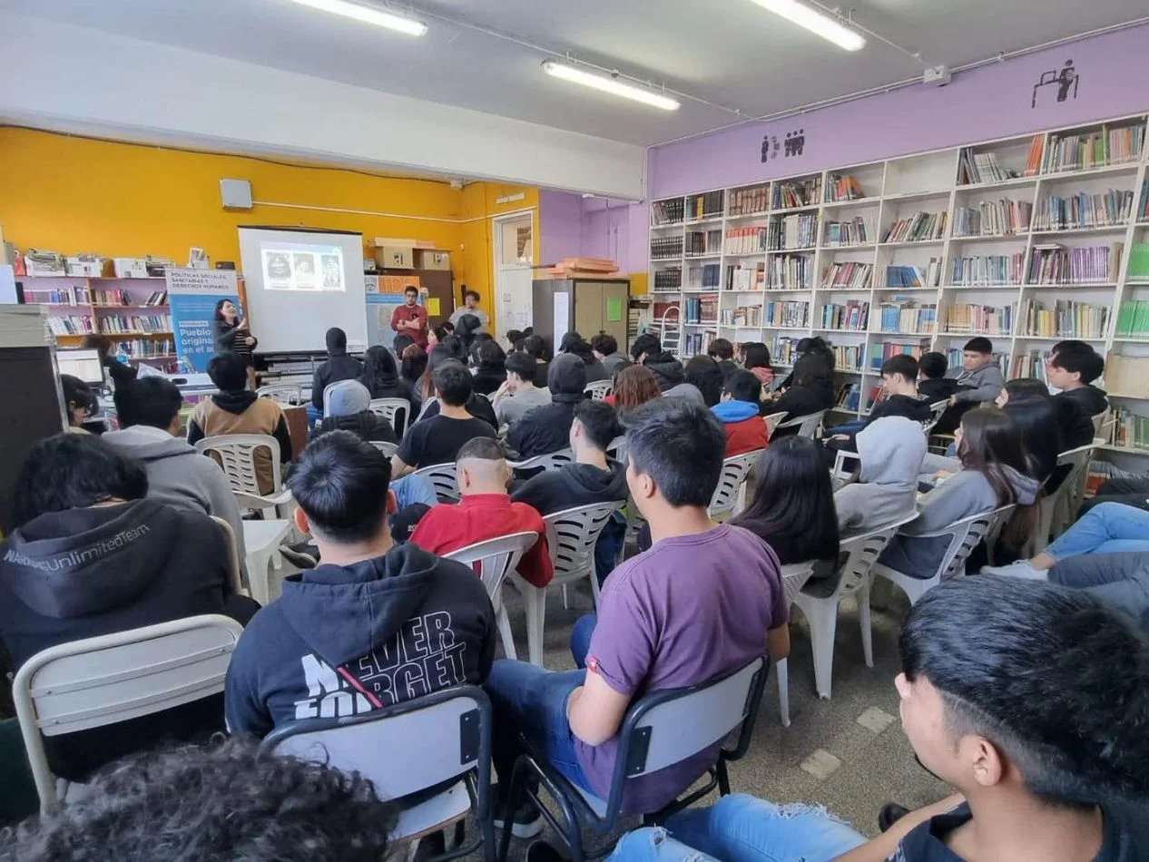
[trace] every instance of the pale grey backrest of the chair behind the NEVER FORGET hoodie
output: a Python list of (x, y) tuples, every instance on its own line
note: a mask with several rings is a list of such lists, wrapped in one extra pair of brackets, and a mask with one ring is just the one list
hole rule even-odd
[[(334, 674), (332, 683), (338, 686)], [(471, 769), (481, 772), (489, 762), (491, 701), (476, 686), (444, 688), (375, 710), (365, 694), (346, 694), (362, 701), (362, 709), (355, 709), (361, 715), (285, 724), (260, 751), (360, 772), (380, 799), (407, 796)]]

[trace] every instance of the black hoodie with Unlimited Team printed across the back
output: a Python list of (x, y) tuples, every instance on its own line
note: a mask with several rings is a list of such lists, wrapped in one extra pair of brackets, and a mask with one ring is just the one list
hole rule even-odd
[[(228, 594), (228, 568), (219, 528), (157, 500), (40, 515), (0, 546), (0, 637), (13, 670), (57, 644), (182, 617), (229, 614), (245, 622), (255, 605)], [(83, 780), (162, 738), (219, 730), (219, 708), (218, 698), (207, 698), (51, 737), (48, 759), (56, 775)]]

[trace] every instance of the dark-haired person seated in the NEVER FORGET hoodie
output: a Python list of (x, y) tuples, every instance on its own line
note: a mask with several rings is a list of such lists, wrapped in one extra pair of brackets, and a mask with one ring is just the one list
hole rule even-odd
[(487, 591), (462, 563), (393, 545), (390, 482), (387, 459), (347, 431), (303, 451), (287, 485), (295, 525), (323, 562), (290, 576), (236, 645), (224, 690), (232, 733), (262, 737), (487, 678), (496, 637)]

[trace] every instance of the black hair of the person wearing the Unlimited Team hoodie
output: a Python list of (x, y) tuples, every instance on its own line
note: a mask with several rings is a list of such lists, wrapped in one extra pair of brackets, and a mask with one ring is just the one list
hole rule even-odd
[(99, 437), (63, 433), (28, 452), (13, 488), (13, 521), (23, 526), (47, 511), (78, 509), (109, 500), (142, 500), (147, 472)]

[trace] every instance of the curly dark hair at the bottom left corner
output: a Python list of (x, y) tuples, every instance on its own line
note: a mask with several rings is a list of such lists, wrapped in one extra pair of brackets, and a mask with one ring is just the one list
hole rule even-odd
[(398, 809), (370, 779), (259, 748), (240, 736), (117, 760), (93, 777), (92, 793), (8, 831), (0, 860), (386, 859)]

